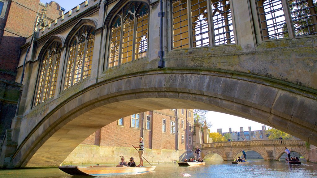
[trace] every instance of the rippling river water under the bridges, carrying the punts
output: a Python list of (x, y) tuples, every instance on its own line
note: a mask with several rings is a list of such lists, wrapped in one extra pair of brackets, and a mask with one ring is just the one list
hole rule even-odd
[[(176, 163), (154, 164), (155, 170), (138, 175), (116, 175), (107, 178), (227, 178), (227, 177), (261, 177), (261, 178), (316, 178), (317, 164), (302, 161), (291, 165), (283, 161), (248, 160), (242, 164), (230, 161), (207, 161), (204, 166), (183, 167)], [(28, 168), (0, 170), (0, 178), (84, 178), (86, 176), (68, 175), (58, 168)]]

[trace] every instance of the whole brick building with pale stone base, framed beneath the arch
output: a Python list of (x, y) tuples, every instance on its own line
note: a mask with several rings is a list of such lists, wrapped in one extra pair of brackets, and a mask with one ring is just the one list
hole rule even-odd
[(64, 164), (116, 163), (121, 156), (126, 160), (134, 156), (138, 163), (132, 144), (138, 146), (139, 137), (144, 139), (145, 158), (151, 163), (183, 160), (192, 156), (193, 123), (192, 109), (133, 114), (96, 131), (74, 149)]

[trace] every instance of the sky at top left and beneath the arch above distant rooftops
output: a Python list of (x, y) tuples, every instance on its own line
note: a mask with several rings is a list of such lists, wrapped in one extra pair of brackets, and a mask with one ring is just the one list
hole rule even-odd
[[(49, 0), (40, 1), (42, 3), (51, 2)], [(85, 0), (55, 0), (56, 3), (65, 9), (65, 12), (73, 9), (84, 1)], [(211, 132), (217, 132), (217, 129), (220, 128), (223, 129), (223, 132), (229, 132), (229, 127), (231, 127), (233, 131), (240, 131), (240, 127), (244, 127), (244, 130), (248, 130), (249, 126), (251, 126), (252, 130), (262, 130), (262, 125), (264, 125), (248, 119), (213, 111), (208, 112), (207, 120), (212, 124), (209, 128)], [(266, 128), (268, 128), (268, 126)]]

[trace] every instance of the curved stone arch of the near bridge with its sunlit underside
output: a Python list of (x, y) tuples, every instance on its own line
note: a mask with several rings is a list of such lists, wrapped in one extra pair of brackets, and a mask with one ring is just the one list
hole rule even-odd
[(99, 82), (72, 96), (61, 93), (49, 107), (34, 108), (23, 117), (21, 130), (28, 134), (19, 138), (9, 167), (57, 166), (103, 126), (134, 113), (170, 108), (223, 112), (317, 144), (312, 127), (317, 116), (303, 113), (303, 107), (314, 111), (317, 102), (263, 81), (210, 71), (138, 73)]

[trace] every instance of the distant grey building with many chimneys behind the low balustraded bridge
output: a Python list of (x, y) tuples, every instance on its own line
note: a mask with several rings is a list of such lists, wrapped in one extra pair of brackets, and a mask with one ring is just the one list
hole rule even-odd
[(217, 132), (224, 135), (226, 133), (230, 133), (231, 141), (243, 141), (244, 138), (246, 140), (268, 140), (267, 134), (265, 133), (266, 126), (262, 125), (262, 130), (251, 130), (251, 127), (248, 127), (248, 131), (244, 131), (243, 127), (240, 127), (240, 131), (231, 131), (229, 128), (229, 132), (222, 132), (222, 129), (217, 129)]

